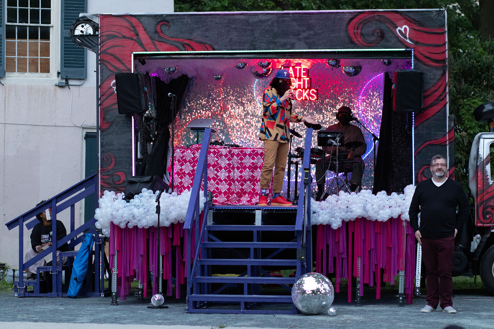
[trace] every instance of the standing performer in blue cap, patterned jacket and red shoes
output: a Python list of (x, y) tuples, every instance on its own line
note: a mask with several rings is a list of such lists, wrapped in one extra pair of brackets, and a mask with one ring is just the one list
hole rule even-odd
[(290, 89), (290, 73), (278, 70), (271, 85), (262, 95), (263, 111), (259, 139), (264, 142), (264, 165), (261, 171), (261, 195), (259, 206), (267, 206), (267, 195), (273, 167), (272, 206), (291, 206), (291, 202), (281, 196), (288, 157), (289, 122), (307, 122), (317, 124), (311, 116), (295, 115), (291, 112), (291, 100), (294, 98)]

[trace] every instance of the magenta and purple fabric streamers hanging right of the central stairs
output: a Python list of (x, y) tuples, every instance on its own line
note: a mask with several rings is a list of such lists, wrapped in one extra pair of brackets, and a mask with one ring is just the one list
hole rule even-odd
[[(348, 226), (348, 235), (346, 226)], [(348, 302), (353, 300), (352, 277), (357, 277), (359, 274), (361, 276), (359, 295), (364, 295), (364, 284), (370, 287), (375, 285), (375, 297), (380, 299), (381, 283), (389, 282), (394, 285), (398, 271), (405, 270), (406, 300), (407, 303), (412, 303), (415, 235), (408, 221), (403, 221), (400, 217), (384, 222), (363, 218), (348, 223), (343, 222), (336, 230), (329, 225), (318, 225), (316, 236), (316, 271), (324, 275), (335, 274), (335, 292), (339, 292), (341, 279), (347, 278)], [(400, 244), (403, 243), (406, 245), (405, 253), (400, 251)], [(358, 256), (361, 257), (360, 273)], [(384, 271), (382, 281), (381, 269)]]

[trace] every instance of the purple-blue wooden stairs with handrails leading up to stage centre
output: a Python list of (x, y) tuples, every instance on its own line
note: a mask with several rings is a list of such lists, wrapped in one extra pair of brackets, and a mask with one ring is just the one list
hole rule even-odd
[[(199, 200), (207, 195), (206, 128), (191, 199), (184, 223), (187, 234), (188, 313), (296, 314), (291, 285), (312, 270), (309, 154), (304, 154), (299, 203), (291, 207), (206, 204), (200, 220)], [(312, 129), (307, 129), (310, 149)], [(308, 147), (307, 147), (308, 145)], [(305, 170), (307, 168), (307, 170)], [(200, 191), (204, 183), (204, 192)], [(308, 219), (308, 220), (307, 220)], [(191, 239), (192, 238), (192, 239)], [(195, 251), (195, 252), (193, 252)], [(272, 275), (290, 270), (294, 277)]]

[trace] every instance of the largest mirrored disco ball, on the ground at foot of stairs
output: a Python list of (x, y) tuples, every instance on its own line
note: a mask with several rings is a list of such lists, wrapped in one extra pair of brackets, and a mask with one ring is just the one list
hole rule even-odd
[(327, 312), (333, 303), (333, 285), (322, 274), (306, 273), (291, 288), (291, 299), (303, 314), (322, 314)]

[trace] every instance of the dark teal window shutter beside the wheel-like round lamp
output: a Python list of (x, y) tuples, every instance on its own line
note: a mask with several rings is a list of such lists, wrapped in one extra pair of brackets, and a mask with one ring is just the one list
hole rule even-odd
[[(0, 0), (1, 1), (1, 0)], [(72, 42), (70, 27), (87, 11), (87, 0), (61, 0), (62, 36), (60, 43), (60, 77), (85, 79), (87, 77), (86, 50)]]

